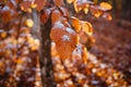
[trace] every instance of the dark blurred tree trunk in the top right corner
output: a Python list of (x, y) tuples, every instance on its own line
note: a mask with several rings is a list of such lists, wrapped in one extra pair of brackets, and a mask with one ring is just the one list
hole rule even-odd
[(122, 0), (122, 18), (131, 21), (131, 0)]

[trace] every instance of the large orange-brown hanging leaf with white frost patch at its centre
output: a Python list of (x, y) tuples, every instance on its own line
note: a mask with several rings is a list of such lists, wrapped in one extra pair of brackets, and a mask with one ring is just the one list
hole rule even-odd
[(51, 29), (50, 38), (56, 42), (57, 51), (62, 60), (71, 57), (78, 44), (78, 35), (75, 32), (73, 34), (69, 33), (62, 24), (57, 24)]

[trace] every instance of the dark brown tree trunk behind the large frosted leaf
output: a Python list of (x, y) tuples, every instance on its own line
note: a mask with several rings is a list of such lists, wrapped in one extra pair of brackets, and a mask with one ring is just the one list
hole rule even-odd
[(43, 87), (56, 87), (53, 80), (53, 70), (51, 61), (51, 40), (50, 40), (51, 18), (46, 24), (40, 25), (40, 71)]

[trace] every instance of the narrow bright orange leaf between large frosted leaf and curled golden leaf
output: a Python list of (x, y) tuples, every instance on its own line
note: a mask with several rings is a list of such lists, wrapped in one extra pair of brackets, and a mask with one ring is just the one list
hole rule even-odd
[(74, 29), (76, 30), (76, 33), (79, 33), (81, 30), (81, 24), (79, 18), (72, 16), (72, 26), (74, 27)]

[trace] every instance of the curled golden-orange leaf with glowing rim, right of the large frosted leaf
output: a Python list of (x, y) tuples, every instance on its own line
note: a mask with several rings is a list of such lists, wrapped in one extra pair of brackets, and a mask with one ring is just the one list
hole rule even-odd
[(87, 34), (92, 35), (93, 34), (93, 26), (88, 22), (81, 21), (82, 29)]

